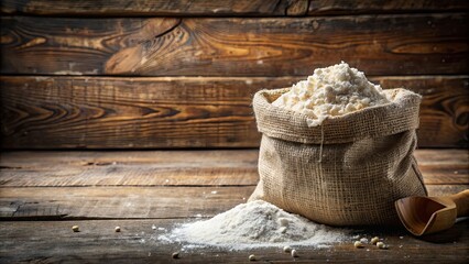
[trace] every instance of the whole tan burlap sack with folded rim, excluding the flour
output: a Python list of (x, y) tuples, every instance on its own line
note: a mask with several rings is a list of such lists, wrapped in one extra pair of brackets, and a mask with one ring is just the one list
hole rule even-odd
[(331, 226), (399, 223), (396, 199), (426, 196), (413, 156), (421, 96), (385, 90), (391, 103), (326, 119), (271, 105), (286, 89), (261, 90), (253, 99), (262, 133), (260, 182), (250, 200)]

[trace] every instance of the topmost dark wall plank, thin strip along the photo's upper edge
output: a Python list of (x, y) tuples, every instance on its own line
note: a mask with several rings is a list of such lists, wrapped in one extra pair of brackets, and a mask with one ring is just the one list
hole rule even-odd
[[(309, 9), (308, 9), (309, 2)], [(4, 14), (34, 15), (323, 15), (357, 13), (444, 12), (468, 10), (465, 0), (3, 0)]]

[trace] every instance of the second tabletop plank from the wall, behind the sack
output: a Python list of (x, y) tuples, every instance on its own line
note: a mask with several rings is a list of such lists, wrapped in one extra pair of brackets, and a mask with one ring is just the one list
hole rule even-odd
[[(1, 187), (85, 186), (252, 186), (259, 182), (258, 166), (186, 166), (186, 164), (102, 164), (72, 166), (7, 165), (0, 170)], [(468, 166), (425, 166), (419, 169), (426, 185), (469, 185)]]

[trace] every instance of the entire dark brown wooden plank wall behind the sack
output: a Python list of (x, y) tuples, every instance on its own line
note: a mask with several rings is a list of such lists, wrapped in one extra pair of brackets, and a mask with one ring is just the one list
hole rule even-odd
[(469, 2), (1, 1), (3, 148), (257, 147), (252, 95), (348, 62), (467, 147)]

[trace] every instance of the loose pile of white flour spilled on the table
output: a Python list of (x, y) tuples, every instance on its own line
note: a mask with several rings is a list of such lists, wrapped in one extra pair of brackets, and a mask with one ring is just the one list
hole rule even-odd
[(179, 242), (185, 248), (218, 246), (236, 251), (283, 245), (323, 248), (346, 241), (347, 233), (257, 200), (208, 220), (185, 223), (157, 239)]

